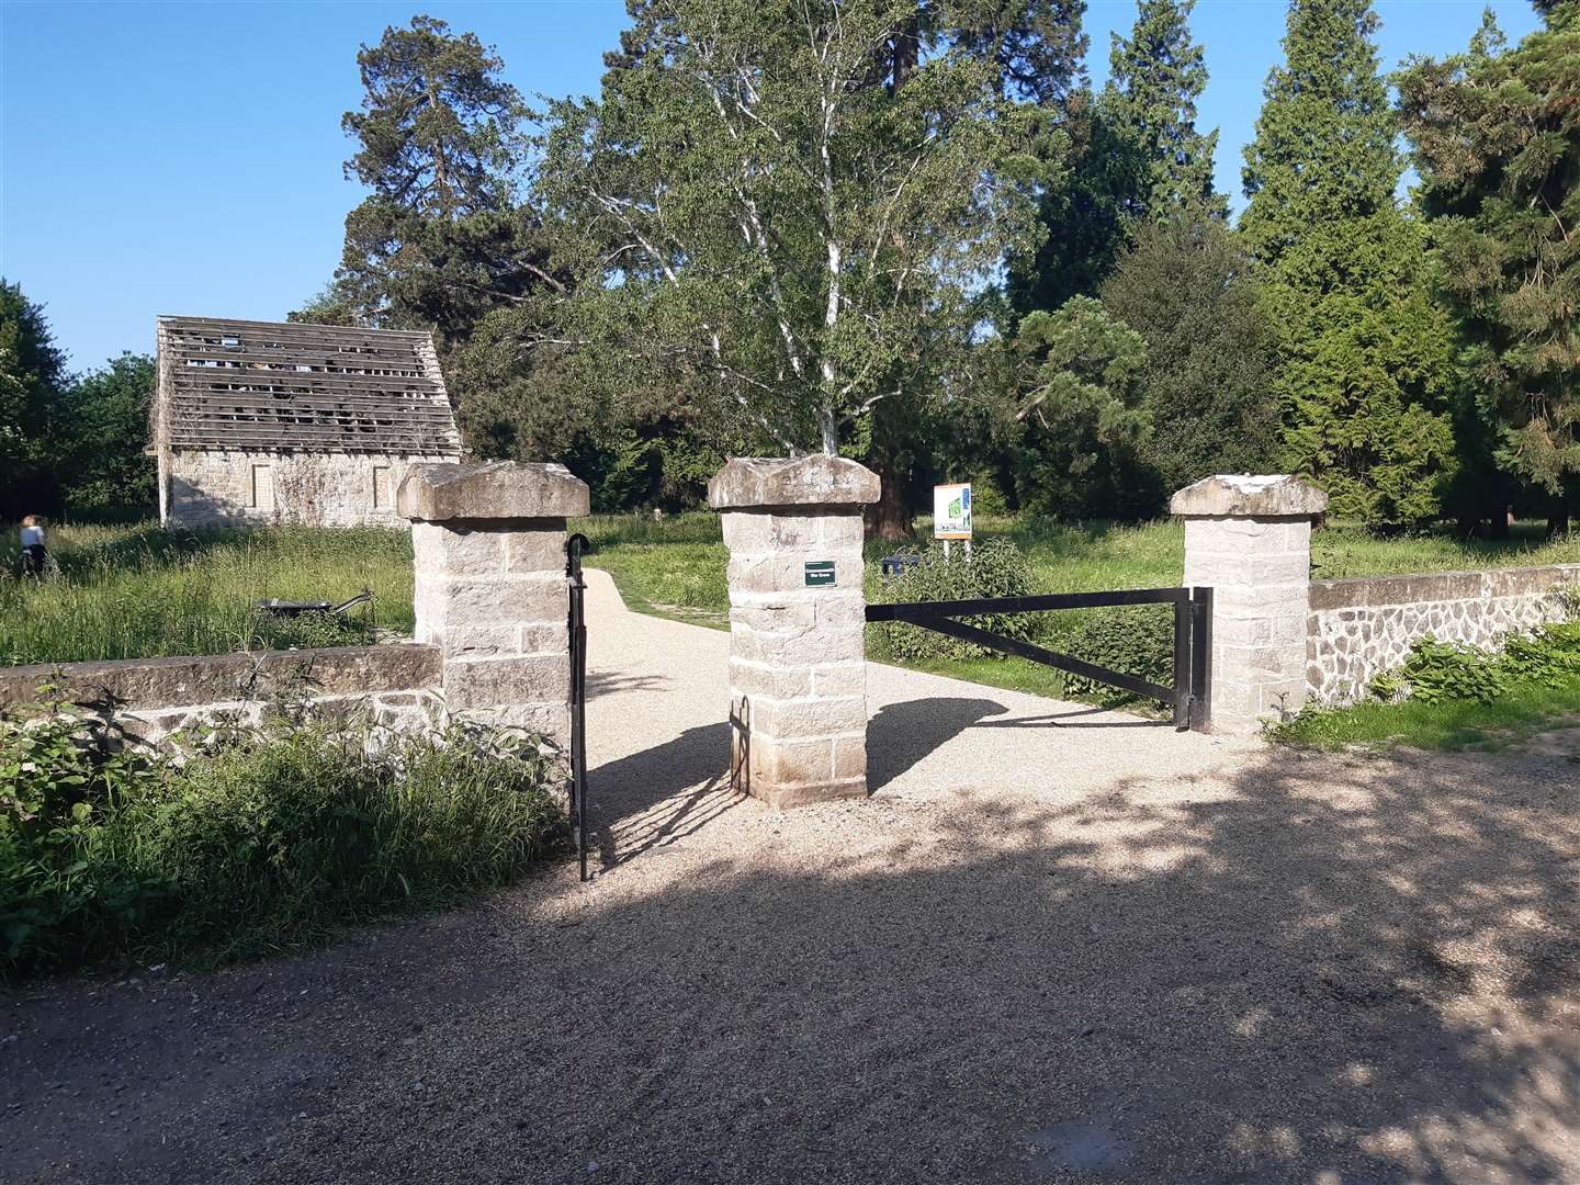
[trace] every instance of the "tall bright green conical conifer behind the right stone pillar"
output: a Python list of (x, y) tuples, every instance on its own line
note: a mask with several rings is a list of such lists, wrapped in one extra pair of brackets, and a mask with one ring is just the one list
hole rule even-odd
[(1285, 465), (1335, 514), (1435, 518), (1454, 479), (1455, 333), (1403, 160), (1368, 0), (1292, 0), (1285, 63), (1245, 150), (1240, 218), (1278, 330)]

